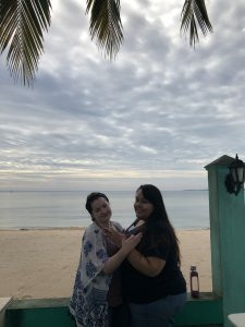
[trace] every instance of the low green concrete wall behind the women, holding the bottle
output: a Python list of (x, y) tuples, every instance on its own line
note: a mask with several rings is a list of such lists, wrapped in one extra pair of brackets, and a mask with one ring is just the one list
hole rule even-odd
[[(75, 327), (69, 313), (70, 298), (14, 300), (8, 306), (5, 327)], [(222, 299), (212, 293), (188, 294), (174, 326), (222, 326)]]

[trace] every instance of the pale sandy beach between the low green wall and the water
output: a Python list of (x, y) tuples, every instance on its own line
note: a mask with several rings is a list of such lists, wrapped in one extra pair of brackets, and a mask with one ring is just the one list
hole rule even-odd
[[(83, 229), (0, 230), (0, 298), (71, 296)], [(200, 291), (211, 291), (210, 231), (177, 231), (182, 271), (189, 290), (196, 265)]]

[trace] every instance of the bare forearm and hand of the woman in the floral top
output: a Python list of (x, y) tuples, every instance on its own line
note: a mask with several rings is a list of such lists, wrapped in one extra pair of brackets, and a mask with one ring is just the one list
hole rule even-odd
[(138, 233), (137, 235), (132, 235), (128, 239), (122, 239), (122, 244), (120, 250), (108, 258), (103, 266), (103, 272), (106, 275), (112, 274), (119, 266), (122, 264), (122, 262), (126, 258), (128, 253), (139, 243), (142, 240), (142, 233)]

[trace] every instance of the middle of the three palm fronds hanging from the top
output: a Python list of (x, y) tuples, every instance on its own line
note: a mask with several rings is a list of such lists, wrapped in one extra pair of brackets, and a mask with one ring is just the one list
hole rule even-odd
[(89, 11), (91, 39), (96, 38), (106, 57), (115, 58), (123, 43), (120, 0), (87, 0)]

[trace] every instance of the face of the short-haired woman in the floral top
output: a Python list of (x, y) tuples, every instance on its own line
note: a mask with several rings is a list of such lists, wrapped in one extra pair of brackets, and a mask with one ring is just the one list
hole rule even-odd
[(108, 227), (111, 207), (105, 197), (98, 197), (91, 203), (91, 217), (99, 226)]

